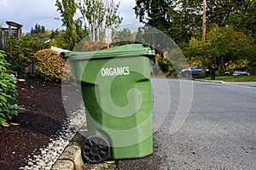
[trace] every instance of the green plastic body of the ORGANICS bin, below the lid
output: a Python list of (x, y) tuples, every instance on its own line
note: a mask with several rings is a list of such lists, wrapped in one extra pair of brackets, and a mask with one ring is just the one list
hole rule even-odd
[(150, 155), (153, 142), (149, 59), (137, 56), (81, 60), (74, 66), (82, 82), (89, 134), (108, 139), (114, 159)]

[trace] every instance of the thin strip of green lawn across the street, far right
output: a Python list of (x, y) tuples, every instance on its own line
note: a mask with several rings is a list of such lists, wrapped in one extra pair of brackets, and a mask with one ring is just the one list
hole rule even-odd
[[(211, 77), (205, 77), (204, 80), (211, 80)], [(215, 77), (217, 81), (223, 82), (256, 82), (256, 76), (220, 76)]]

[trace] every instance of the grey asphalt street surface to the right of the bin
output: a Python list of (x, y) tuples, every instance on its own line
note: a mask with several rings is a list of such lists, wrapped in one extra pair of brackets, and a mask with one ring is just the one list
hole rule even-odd
[[(155, 101), (159, 111), (154, 111), (154, 117), (165, 117), (161, 126), (154, 129), (154, 154), (166, 158), (159, 163), (160, 169), (255, 169), (255, 82), (168, 79), (169, 93), (161, 88), (163, 80), (152, 82), (154, 89), (160, 91), (155, 95), (163, 99)], [(169, 110), (161, 112), (160, 103), (171, 104)], [(178, 111), (177, 105), (189, 106), (187, 114)]]

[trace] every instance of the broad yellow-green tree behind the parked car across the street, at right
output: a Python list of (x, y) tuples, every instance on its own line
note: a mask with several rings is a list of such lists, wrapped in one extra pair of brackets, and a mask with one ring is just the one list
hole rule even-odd
[[(254, 39), (232, 27), (212, 27), (207, 33), (207, 41), (201, 35), (192, 37), (185, 51), (190, 59), (198, 59), (203, 64), (218, 65), (225, 71), (231, 64), (239, 65), (241, 60), (253, 58)], [(206, 62), (207, 63), (204, 63)]]

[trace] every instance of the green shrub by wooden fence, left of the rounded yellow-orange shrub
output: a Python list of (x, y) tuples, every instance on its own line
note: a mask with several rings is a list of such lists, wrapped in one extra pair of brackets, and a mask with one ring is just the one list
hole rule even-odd
[(6, 48), (9, 69), (17, 72), (20, 77), (26, 77), (26, 66), (34, 61), (33, 54), (40, 49), (49, 48), (49, 44), (30, 36), (22, 37), (21, 40), (11, 37)]

